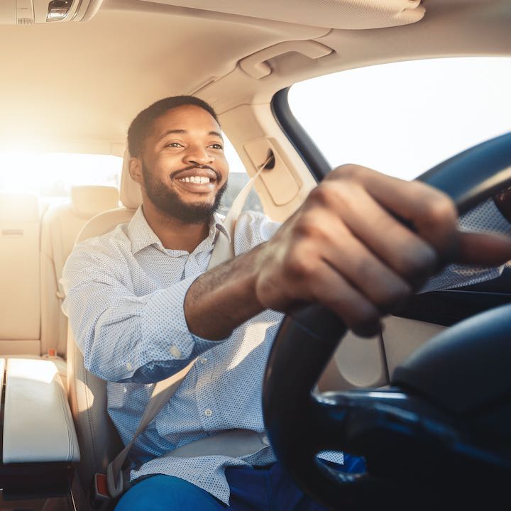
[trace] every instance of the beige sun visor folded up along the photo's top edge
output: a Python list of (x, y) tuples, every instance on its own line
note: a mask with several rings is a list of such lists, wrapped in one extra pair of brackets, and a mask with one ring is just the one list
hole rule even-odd
[(327, 28), (383, 28), (415, 23), (421, 0), (143, 0), (154, 4)]

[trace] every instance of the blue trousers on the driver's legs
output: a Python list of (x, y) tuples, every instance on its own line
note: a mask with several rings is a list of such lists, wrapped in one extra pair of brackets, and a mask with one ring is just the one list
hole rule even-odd
[[(343, 471), (364, 470), (361, 458), (346, 456)], [(348, 463), (346, 463), (348, 461)], [(326, 511), (304, 495), (280, 463), (263, 467), (228, 467), (229, 507), (207, 491), (172, 476), (151, 476), (133, 485), (115, 511)]]

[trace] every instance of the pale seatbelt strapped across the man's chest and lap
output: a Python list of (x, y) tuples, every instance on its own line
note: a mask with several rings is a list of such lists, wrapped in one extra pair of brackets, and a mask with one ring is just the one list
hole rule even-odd
[[(236, 228), (236, 221), (238, 216), (241, 214), (241, 210), (243, 209), (248, 194), (253, 187), (253, 183), (260, 176), (260, 173), (272, 159), (273, 155), (268, 156), (268, 158), (265, 160), (265, 163), (258, 167), (258, 171), (241, 189), (241, 192), (239, 192), (236, 199), (234, 199), (231, 205), (231, 209), (229, 209), (229, 213), (223, 222), (226, 232), (229, 233), (229, 238), (227, 236), (220, 236), (221, 233), (219, 233), (217, 236), (213, 251), (211, 253), (211, 258), (209, 260), (208, 270), (234, 257), (234, 229)], [(123, 477), (122, 468), (138, 435), (143, 432), (145, 427), (147, 427), (147, 425), (154, 419), (158, 412), (160, 412), (165, 403), (168, 402), (172, 395), (175, 394), (177, 388), (182, 383), (182, 380), (186, 378), (186, 375), (189, 373), (189, 370), (192, 369), (196, 360), (197, 358), (191, 361), (178, 373), (170, 376), (170, 378), (156, 383), (149, 402), (145, 407), (141, 422), (138, 424), (138, 428), (136, 429), (133, 438), (131, 439), (130, 443), (106, 467), (106, 483), (108, 485), (108, 490), (111, 498), (119, 497), (119, 495), (122, 495), (124, 490), (126, 490), (127, 485)], [(219, 448), (214, 447), (214, 439), (216, 438), (219, 439)], [(259, 449), (263, 449), (267, 445), (268, 442), (265, 441), (264, 434), (251, 432), (248, 430), (233, 429), (230, 432), (224, 432), (216, 436), (210, 436), (204, 439), (190, 442), (185, 446), (182, 446), (173, 451), (169, 451), (162, 457), (211, 456), (211, 454), (207, 453), (211, 451), (212, 447), (214, 447), (213, 450), (215, 453), (223, 453), (224, 456), (236, 457), (252, 454)], [(179, 451), (181, 451), (182, 454), (179, 454)]]

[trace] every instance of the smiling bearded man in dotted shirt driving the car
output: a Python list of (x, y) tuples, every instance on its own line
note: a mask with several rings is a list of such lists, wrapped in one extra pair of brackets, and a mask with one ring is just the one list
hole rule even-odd
[(261, 380), (279, 312), (321, 302), (368, 336), (445, 263), (499, 265), (511, 258), (511, 241), (458, 231), (453, 204), (434, 189), (348, 165), (282, 226), (242, 214), (236, 258), (207, 271), (216, 237), (228, 236), (215, 213), (229, 168), (211, 106), (158, 101), (131, 123), (128, 145), (143, 207), (129, 224), (75, 248), (64, 310), (85, 366), (108, 381), (109, 414), (125, 443), (148, 384), (198, 359), (138, 437), (131, 478), (140, 482), (116, 509), (322, 509), (268, 446), (241, 458), (160, 456), (227, 429), (263, 431)]

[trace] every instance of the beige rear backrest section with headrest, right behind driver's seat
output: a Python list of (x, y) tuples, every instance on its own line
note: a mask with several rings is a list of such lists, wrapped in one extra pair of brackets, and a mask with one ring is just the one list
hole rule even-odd
[(89, 219), (119, 206), (119, 191), (109, 186), (76, 186), (71, 204), (50, 208), (41, 223), (41, 354), (66, 355), (67, 319), (62, 314), (58, 280), (75, 240)]

